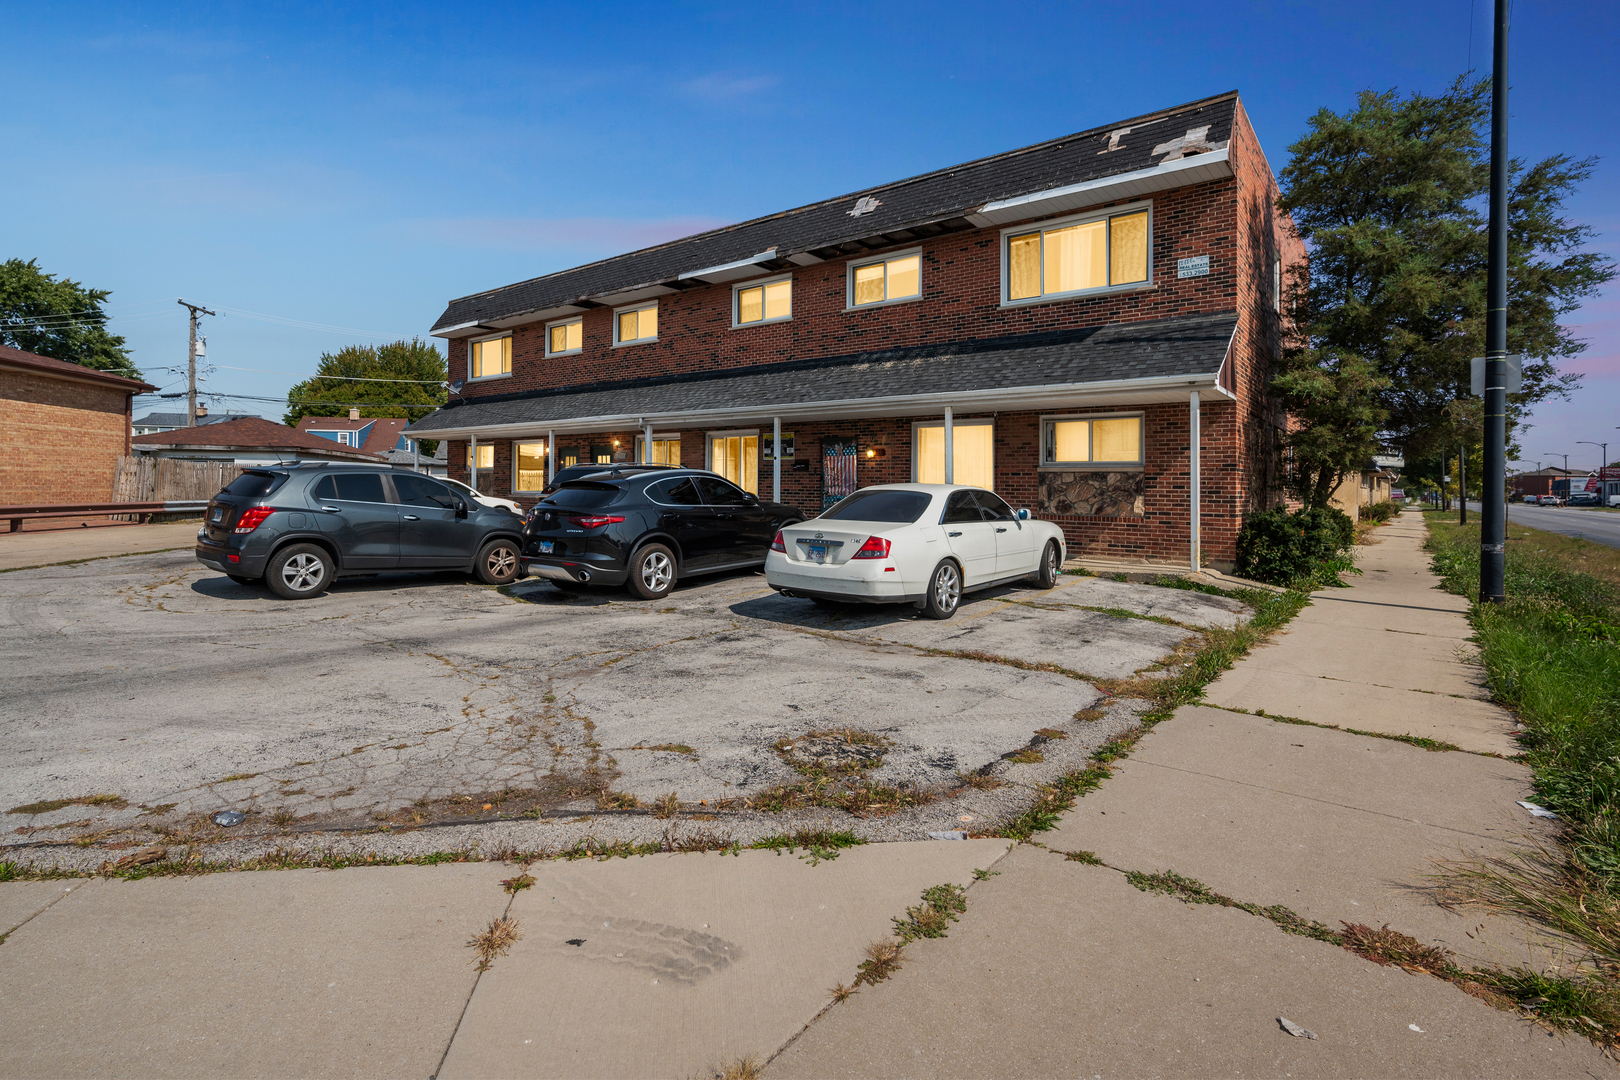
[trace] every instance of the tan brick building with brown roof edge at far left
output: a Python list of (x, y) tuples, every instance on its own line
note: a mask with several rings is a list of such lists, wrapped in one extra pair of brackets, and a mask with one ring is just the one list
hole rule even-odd
[(0, 345), (0, 504), (110, 502), (131, 402), (156, 389)]

